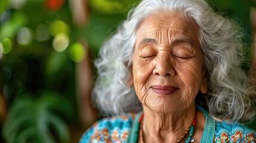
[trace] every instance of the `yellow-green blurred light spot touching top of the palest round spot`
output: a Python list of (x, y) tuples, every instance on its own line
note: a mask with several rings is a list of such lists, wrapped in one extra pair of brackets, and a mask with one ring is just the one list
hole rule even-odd
[(50, 23), (50, 33), (54, 37), (60, 33), (69, 35), (70, 27), (62, 20), (54, 20), (52, 23)]

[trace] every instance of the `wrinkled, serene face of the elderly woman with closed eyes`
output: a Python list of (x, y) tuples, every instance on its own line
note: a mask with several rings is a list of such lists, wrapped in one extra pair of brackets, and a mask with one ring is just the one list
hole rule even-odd
[(195, 22), (181, 13), (154, 13), (138, 26), (132, 74), (141, 103), (159, 113), (188, 108), (206, 92)]

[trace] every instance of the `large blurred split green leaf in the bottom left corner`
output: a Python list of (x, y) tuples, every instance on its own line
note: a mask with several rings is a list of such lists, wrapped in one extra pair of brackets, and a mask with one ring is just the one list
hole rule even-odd
[(7, 142), (70, 142), (63, 117), (73, 116), (72, 111), (69, 101), (54, 92), (43, 92), (37, 99), (20, 96), (11, 105), (3, 137)]

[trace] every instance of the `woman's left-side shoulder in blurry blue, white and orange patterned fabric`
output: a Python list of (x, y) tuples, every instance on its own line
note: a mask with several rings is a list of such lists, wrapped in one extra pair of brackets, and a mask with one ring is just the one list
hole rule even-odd
[(106, 117), (95, 122), (82, 135), (79, 143), (84, 142), (126, 142), (137, 113)]

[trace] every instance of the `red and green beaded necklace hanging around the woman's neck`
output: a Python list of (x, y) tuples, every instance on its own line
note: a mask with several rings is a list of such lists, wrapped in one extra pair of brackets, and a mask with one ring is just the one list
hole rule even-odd
[[(144, 143), (143, 130), (142, 130), (143, 117), (144, 117), (144, 114), (142, 113), (140, 116), (140, 119), (138, 119), (138, 122), (140, 123), (140, 142), (141, 143)], [(187, 128), (187, 130), (183, 133), (183, 135), (180, 136), (180, 138), (177, 140), (176, 143), (180, 143), (181, 141), (183, 141), (183, 139), (187, 136), (188, 133), (189, 133), (189, 142), (194, 142), (195, 139), (193, 139), (192, 136), (194, 135), (194, 132), (195, 132), (195, 125), (196, 125), (196, 115), (194, 117), (192, 125), (189, 128)]]

